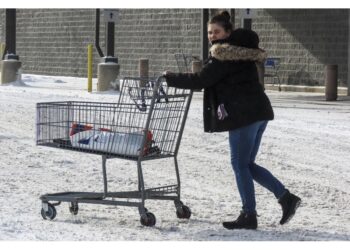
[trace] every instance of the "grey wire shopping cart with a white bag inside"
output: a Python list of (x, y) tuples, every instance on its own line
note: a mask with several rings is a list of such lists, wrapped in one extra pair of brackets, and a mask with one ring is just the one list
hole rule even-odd
[[(141, 224), (153, 226), (156, 218), (145, 200), (154, 199), (174, 201), (177, 217), (190, 218), (190, 208), (180, 200), (177, 154), (191, 98), (192, 91), (168, 87), (162, 77), (129, 77), (123, 79), (117, 103), (37, 103), (37, 145), (101, 155), (104, 188), (42, 195), (42, 217), (54, 219), (61, 202), (68, 202), (74, 215), (79, 203), (120, 205), (137, 207)], [(137, 163), (138, 190), (108, 191), (106, 163), (112, 158)], [(174, 159), (177, 183), (145, 189), (142, 162), (161, 158)]]

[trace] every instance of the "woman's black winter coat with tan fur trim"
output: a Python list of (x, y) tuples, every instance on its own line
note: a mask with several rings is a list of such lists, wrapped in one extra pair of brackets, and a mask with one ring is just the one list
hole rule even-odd
[[(204, 88), (205, 132), (221, 132), (274, 118), (271, 103), (259, 83), (256, 61), (266, 53), (260, 49), (215, 44), (211, 56), (199, 73), (168, 73), (169, 86), (184, 89)], [(224, 104), (228, 116), (218, 119), (218, 106)]]

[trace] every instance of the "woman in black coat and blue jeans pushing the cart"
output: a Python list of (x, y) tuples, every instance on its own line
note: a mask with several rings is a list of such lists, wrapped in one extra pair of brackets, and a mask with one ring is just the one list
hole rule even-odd
[(255, 62), (266, 58), (259, 49), (259, 37), (251, 30), (232, 30), (230, 15), (224, 11), (208, 22), (210, 57), (199, 73), (164, 72), (169, 86), (204, 88), (205, 132), (228, 131), (231, 164), (236, 177), (242, 210), (227, 229), (256, 229), (254, 183), (271, 191), (282, 206), (280, 224), (288, 222), (301, 200), (291, 194), (268, 170), (255, 163), (262, 135), (274, 118), (270, 101), (259, 84)]

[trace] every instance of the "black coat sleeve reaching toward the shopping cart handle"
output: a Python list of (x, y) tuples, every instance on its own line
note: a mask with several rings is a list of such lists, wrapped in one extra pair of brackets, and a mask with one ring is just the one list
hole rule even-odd
[(168, 73), (169, 86), (182, 89), (202, 89), (213, 86), (227, 74), (227, 65), (212, 58), (199, 73)]

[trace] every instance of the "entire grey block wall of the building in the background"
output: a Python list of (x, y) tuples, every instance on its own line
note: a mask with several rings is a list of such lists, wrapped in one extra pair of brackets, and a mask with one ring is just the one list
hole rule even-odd
[[(0, 10), (0, 40), (4, 12)], [(269, 56), (281, 57), (282, 83), (322, 86), (325, 65), (338, 64), (339, 85), (346, 86), (347, 9), (260, 9), (253, 29)], [(174, 53), (200, 55), (200, 9), (121, 9), (115, 31), (121, 77), (138, 75), (139, 58), (149, 58), (150, 75), (157, 75), (177, 70)], [(104, 34), (101, 17), (103, 51)], [(17, 54), (24, 73), (85, 77), (87, 45), (94, 36), (94, 9), (17, 10)], [(95, 50), (94, 76), (98, 62)]]

